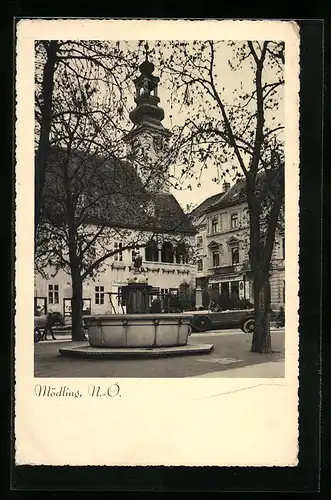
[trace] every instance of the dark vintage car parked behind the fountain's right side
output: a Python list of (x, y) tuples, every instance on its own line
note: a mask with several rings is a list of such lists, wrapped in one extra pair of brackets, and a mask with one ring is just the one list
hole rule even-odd
[(187, 314), (193, 316), (191, 322), (193, 332), (230, 328), (240, 328), (244, 333), (254, 332), (254, 309), (189, 311)]

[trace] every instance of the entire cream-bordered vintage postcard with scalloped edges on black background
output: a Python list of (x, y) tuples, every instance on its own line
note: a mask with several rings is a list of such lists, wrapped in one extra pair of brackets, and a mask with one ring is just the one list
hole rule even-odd
[(16, 37), (15, 463), (296, 466), (298, 26)]

